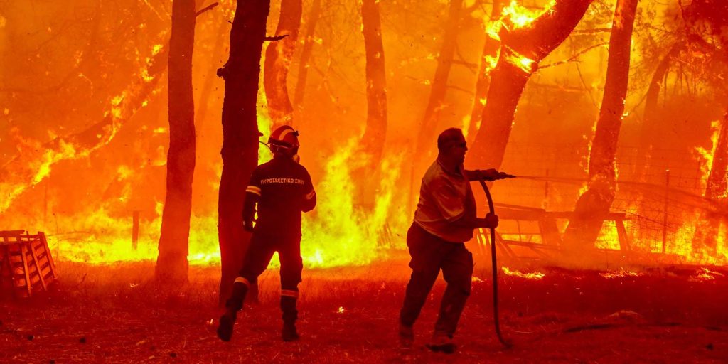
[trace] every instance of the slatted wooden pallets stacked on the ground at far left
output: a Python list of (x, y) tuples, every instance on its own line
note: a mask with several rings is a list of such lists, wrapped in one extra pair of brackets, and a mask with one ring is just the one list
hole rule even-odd
[(31, 297), (58, 279), (45, 234), (0, 231), (0, 293)]

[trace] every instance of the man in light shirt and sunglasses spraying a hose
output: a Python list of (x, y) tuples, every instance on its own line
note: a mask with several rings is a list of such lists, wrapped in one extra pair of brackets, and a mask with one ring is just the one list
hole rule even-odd
[(462, 130), (451, 128), (438, 136), (438, 159), (422, 178), (414, 221), (407, 232), (412, 274), (400, 311), (400, 344), (414, 343), (413, 325), (430, 294), (440, 270), (447, 282), (435, 323), (435, 333), (427, 347), (435, 352), (452, 353), (452, 338), (460, 314), (470, 296), (472, 254), (464, 242), (472, 239), (476, 228), (495, 228), (498, 217), (475, 217), (475, 197), (470, 181), (495, 181), (505, 178), (497, 170), (464, 170), (467, 143)]

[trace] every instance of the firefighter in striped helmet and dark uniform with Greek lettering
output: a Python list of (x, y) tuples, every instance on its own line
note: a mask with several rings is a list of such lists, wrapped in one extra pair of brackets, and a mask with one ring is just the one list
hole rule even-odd
[[(245, 189), (242, 211), (244, 228), (252, 232), (248, 253), (243, 259), (240, 277), (233, 284), (226, 301), (226, 312), (220, 317), (218, 337), (229, 341), (242, 309), (245, 294), (258, 276), (266, 270), (274, 252), (280, 258), (280, 308), (283, 317), (282, 339), (298, 339), (296, 332), (296, 299), (301, 282), (301, 212), (316, 206), (316, 192), (311, 177), (298, 164), (298, 132), (288, 125), (272, 132), (269, 147), (273, 159), (253, 170)], [(258, 220), (255, 221), (256, 205)], [(255, 223), (253, 223), (255, 222)]]

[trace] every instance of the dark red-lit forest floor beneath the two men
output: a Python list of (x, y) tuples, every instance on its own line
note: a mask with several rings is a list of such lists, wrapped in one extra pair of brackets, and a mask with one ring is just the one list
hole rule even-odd
[(639, 276), (546, 266), (541, 279), (501, 275), (505, 349), (494, 335), (489, 270), (476, 265), (453, 355), (424, 347), (444, 282), (400, 349), (397, 314), (406, 261), (306, 269), (301, 340), (280, 341), (278, 272), (261, 276), (232, 341), (215, 336), (217, 266), (191, 266), (189, 283), (151, 279), (151, 263), (60, 262), (60, 281), (31, 299), (0, 299), (0, 363), (728, 363), (728, 272), (670, 266)]

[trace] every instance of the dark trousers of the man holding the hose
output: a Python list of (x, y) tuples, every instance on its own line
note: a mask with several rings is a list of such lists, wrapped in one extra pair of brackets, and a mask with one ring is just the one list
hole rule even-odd
[(435, 333), (452, 337), (465, 301), (470, 296), (472, 253), (465, 248), (464, 243), (442, 240), (424, 231), (417, 223), (412, 223), (407, 232), (407, 247), (411, 256), (409, 266), (412, 276), (400, 312), (400, 323), (414, 325), (442, 269), (448, 286), (440, 304)]

